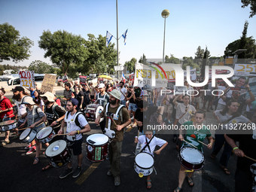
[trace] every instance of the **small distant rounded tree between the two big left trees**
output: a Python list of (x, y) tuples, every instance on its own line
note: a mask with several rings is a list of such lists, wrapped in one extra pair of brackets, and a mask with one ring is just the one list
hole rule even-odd
[(31, 62), (28, 71), (34, 71), (35, 73), (39, 74), (54, 73), (54, 69), (52, 66), (40, 60), (35, 60)]

